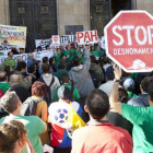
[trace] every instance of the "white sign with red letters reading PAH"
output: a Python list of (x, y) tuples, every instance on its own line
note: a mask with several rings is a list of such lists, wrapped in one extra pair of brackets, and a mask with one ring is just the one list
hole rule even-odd
[(76, 39), (79, 45), (98, 43), (97, 31), (78, 32)]

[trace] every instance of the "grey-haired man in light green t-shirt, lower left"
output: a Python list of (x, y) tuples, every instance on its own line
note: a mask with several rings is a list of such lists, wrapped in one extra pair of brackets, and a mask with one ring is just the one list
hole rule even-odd
[[(0, 119), (0, 125), (10, 120), (20, 120), (27, 130), (27, 138), (31, 141), (35, 153), (43, 153), (43, 145), (39, 139), (39, 134), (47, 130), (46, 123), (36, 116), (22, 116), (21, 107), (22, 103), (15, 92), (7, 92), (1, 98), (1, 105), (10, 116)], [(27, 153), (25, 150), (22, 153)]]

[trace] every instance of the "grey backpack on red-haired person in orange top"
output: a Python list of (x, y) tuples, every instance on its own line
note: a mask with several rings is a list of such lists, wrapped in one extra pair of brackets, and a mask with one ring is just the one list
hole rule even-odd
[(21, 115), (32, 116), (36, 115), (37, 104), (43, 101), (43, 98), (32, 98), (28, 97), (23, 104), (21, 109)]

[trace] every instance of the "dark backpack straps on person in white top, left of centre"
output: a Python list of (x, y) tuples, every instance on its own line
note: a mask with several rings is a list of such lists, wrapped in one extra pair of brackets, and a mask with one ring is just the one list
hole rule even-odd
[[(43, 79), (43, 76), (40, 76), (40, 78), (38, 79), (38, 81), (40, 81), (40, 82), (43, 82), (43, 83), (46, 84), (46, 82), (45, 82), (45, 80)], [(54, 84), (54, 82), (55, 82), (55, 76), (52, 75), (52, 80), (51, 80), (50, 84), (49, 84), (49, 85), (46, 84), (46, 87), (47, 87), (47, 95), (44, 97), (44, 99), (47, 102), (48, 106), (49, 106), (50, 103), (52, 102), (52, 99), (51, 99), (51, 90), (50, 90), (50, 87), (51, 87), (51, 85)]]

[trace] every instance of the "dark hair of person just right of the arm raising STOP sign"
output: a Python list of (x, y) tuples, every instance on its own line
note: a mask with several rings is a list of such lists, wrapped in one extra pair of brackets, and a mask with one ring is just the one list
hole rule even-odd
[(119, 102), (128, 103), (128, 93), (126, 92), (125, 89), (119, 87), (118, 89), (118, 94), (119, 94), (119, 97), (118, 97)]

